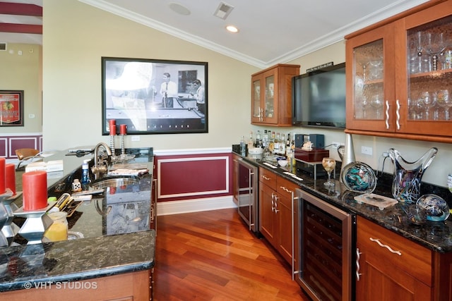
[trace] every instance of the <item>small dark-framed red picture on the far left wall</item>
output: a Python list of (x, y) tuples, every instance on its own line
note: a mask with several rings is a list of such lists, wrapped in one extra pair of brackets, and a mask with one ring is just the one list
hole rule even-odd
[(0, 126), (23, 126), (23, 90), (0, 90)]

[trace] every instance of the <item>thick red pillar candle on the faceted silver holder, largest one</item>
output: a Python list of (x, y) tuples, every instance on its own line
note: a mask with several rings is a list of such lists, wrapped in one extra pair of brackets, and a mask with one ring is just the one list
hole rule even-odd
[(24, 211), (47, 207), (47, 172), (30, 171), (23, 173), (22, 201)]

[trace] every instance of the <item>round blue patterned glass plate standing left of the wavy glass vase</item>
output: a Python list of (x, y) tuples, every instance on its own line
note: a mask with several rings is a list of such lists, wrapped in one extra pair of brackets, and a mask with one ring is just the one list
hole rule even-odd
[(374, 170), (362, 162), (351, 162), (344, 166), (340, 178), (347, 190), (371, 193), (376, 188)]

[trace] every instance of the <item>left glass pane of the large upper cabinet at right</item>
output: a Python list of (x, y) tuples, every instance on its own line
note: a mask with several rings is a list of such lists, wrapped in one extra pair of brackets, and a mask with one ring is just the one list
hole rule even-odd
[(355, 119), (383, 120), (383, 39), (354, 50)]

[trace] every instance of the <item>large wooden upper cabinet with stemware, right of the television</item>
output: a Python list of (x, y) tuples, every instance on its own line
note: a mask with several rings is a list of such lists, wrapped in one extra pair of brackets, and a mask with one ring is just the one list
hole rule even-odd
[(347, 133), (452, 142), (451, 15), (429, 1), (346, 37)]

